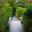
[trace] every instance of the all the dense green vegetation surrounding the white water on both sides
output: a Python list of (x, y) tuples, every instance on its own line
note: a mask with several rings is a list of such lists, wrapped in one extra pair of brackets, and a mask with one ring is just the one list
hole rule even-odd
[[(13, 16), (12, 12), (13, 12), (14, 6), (16, 7), (16, 16), (23, 17), (25, 30), (28, 31), (28, 29), (32, 27), (32, 3), (25, 4), (25, 1), (23, 0), (23, 2), (20, 1), (15, 4), (14, 2), (10, 2), (10, 1), (0, 4), (0, 29), (1, 31), (6, 32), (7, 22), (8, 22), (9, 17)], [(13, 3), (15, 5), (13, 5)]]

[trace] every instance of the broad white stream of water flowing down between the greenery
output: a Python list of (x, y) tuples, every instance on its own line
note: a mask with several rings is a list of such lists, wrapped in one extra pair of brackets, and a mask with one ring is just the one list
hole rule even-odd
[(24, 32), (23, 24), (17, 17), (9, 18), (9, 32)]

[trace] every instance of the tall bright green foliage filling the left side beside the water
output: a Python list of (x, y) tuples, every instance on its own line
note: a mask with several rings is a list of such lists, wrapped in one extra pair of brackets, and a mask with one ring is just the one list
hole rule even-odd
[(9, 3), (0, 6), (0, 25), (1, 30), (5, 32), (7, 30), (8, 18), (12, 16), (13, 8), (10, 7)]

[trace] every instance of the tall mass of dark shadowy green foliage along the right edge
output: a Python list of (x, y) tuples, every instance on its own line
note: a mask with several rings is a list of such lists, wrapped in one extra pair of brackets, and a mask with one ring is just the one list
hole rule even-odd
[(32, 4), (30, 4), (27, 8), (26, 13), (24, 13), (24, 25), (26, 31), (32, 27)]

